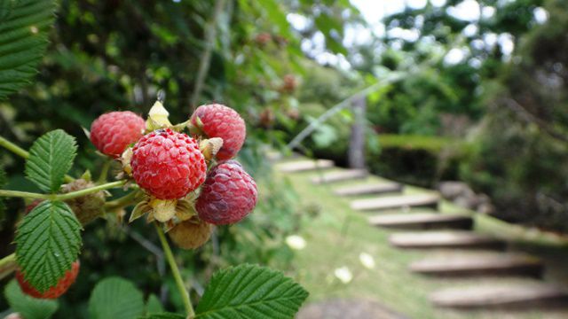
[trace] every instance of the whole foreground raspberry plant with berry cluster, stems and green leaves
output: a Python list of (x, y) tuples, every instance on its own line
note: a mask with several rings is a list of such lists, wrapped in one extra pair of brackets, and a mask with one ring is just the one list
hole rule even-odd
[[(0, 99), (35, 74), (54, 11), (54, 1), (0, 0)], [(162, 102), (159, 97), (146, 120), (117, 111), (102, 114), (85, 130), (106, 157), (96, 180), (89, 171), (69, 175), (79, 145), (61, 129), (40, 136), (29, 150), (0, 136), (0, 146), (25, 160), (26, 178), (40, 191), (5, 190), (0, 168), (0, 210), (3, 198), (28, 203), (16, 225), (16, 251), (0, 260), (0, 279), (16, 277), (4, 293), (20, 317), (45, 318), (57, 311), (54, 299), (81, 276), (83, 226), (112, 214), (122, 220), (120, 212), (128, 207), (133, 208), (126, 222), (144, 217), (154, 225), (185, 314), (164, 312), (155, 297), (145, 302), (134, 284), (110, 277), (93, 287), (90, 318), (291, 318), (307, 298), (280, 272), (243, 264), (215, 273), (193, 309), (166, 234), (182, 249), (199, 248), (217, 225), (239, 222), (253, 211), (257, 189), (233, 159), (246, 136), (238, 113), (225, 105), (202, 105), (187, 121), (172, 124)], [(114, 162), (121, 172), (108, 181)], [(115, 191), (126, 193), (115, 198)]]

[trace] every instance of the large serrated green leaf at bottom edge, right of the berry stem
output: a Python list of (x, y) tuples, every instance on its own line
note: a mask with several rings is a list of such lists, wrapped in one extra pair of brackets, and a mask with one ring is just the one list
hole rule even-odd
[(308, 292), (279, 271), (240, 265), (211, 278), (196, 318), (293, 318)]

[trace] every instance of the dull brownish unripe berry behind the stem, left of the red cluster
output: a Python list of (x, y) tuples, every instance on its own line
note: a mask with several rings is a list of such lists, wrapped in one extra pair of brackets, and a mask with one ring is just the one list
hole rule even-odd
[[(90, 187), (94, 187), (95, 183), (87, 182), (83, 179), (77, 179), (71, 183), (67, 183), (61, 187), (64, 193), (72, 191), (81, 191)], [(71, 198), (65, 201), (73, 210), (75, 216), (81, 224), (85, 225), (94, 221), (104, 213), (105, 193), (97, 191), (78, 198)]]

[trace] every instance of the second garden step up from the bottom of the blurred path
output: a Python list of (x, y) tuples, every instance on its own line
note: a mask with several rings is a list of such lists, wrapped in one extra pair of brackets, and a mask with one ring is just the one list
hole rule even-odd
[(410, 270), (432, 276), (533, 276), (542, 275), (542, 262), (517, 254), (469, 255), (416, 261)]

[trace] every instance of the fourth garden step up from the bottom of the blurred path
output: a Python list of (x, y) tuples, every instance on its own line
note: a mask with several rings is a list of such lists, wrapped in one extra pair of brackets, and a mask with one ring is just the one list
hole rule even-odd
[(462, 214), (386, 214), (369, 217), (373, 226), (405, 230), (471, 230), (473, 219)]

